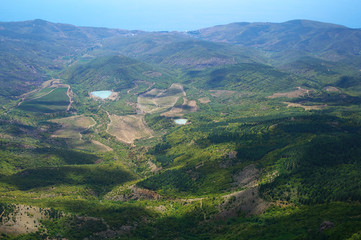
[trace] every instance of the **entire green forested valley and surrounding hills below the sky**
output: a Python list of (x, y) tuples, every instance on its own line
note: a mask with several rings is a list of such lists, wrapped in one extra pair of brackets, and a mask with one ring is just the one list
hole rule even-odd
[[(360, 30), (18, 24), (41, 71), (0, 75), (0, 238), (358, 239)], [(32, 28), (52, 54), (11, 47)]]

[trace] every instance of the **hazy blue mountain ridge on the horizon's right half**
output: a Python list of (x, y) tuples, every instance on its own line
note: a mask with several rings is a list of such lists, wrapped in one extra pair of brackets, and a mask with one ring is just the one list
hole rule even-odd
[(309, 20), (231, 23), (191, 31), (189, 35), (271, 52), (304, 51), (335, 60), (361, 54), (360, 29)]

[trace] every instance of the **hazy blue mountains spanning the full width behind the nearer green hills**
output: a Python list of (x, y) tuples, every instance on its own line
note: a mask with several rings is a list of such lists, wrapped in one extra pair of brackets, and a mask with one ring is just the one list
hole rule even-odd
[[(360, 29), (308, 20), (145, 32), (37, 19), (0, 23), (0, 42), (0, 97), (19, 96), (51, 78), (49, 74), (99, 56), (123, 55), (182, 69), (238, 63), (282, 67), (303, 57), (347, 60), (358, 67), (361, 59)], [(10, 88), (6, 87), (9, 81), (14, 83)]]

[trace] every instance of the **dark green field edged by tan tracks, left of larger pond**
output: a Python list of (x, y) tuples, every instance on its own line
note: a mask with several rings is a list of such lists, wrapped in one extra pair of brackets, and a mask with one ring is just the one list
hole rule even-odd
[(40, 113), (53, 113), (66, 111), (68, 109), (70, 99), (68, 89), (65, 87), (48, 89), (31, 96), (19, 106), (22, 110)]

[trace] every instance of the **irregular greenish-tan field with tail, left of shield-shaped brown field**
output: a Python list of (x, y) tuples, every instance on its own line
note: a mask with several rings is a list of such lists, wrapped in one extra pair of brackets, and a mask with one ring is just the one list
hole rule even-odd
[(57, 130), (52, 137), (65, 139), (71, 148), (100, 152), (111, 150), (111, 148), (98, 141), (83, 139), (81, 133), (96, 124), (91, 117), (72, 116), (50, 121), (61, 125), (61, 129)]

